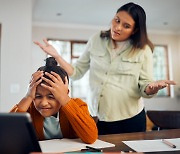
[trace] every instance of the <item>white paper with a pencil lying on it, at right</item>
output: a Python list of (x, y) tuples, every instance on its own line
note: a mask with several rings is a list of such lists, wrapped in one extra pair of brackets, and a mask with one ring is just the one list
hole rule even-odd
[(136, 152), (155, 152), (155, 151), (177, 151), (180, 150), (180, 138), (166, 139), (172, 144), (176, 145), (176, 148), (172, 148), (162, 142), (162, 139), (158, 140), (133, 140), (122, 141)]

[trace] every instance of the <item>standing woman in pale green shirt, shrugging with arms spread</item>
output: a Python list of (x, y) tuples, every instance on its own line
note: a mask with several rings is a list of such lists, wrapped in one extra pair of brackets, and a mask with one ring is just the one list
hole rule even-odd
[(98, 117), (99, 134), (146, 130), (142, 97), (151, 98), (174, 81), (153, 81), (153, 45), (148, 39), (146, 14), (134, 3), (117, 10), (110, 30), (92, 36), (83, 55), (70, 65), (44, 40), (35, 42), (53, 56), (74, 80), (90, 70), (93, 116)]

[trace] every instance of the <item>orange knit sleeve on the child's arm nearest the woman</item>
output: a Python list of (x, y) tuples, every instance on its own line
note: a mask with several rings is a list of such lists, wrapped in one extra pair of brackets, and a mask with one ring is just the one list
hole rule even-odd
[[(73, 130), (83, 142), (92, 144), (96, 141), (98, 137), (96, 123), (90, 116), (86, 103), (78, 98), (71, 99), (61, 110), (65, 113)], [(62, 132), (66, 130), (69, 130), (69, 128), (62, 128)]]

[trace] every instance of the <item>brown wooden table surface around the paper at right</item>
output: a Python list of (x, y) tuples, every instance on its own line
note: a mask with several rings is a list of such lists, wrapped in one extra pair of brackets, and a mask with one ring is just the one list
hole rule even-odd
[[(104, 148), (103, 152), (120, 152), (120, 151), (134, 151), (122, 141), (129, 140), (155, 140), (155, 139), (166, 139), (166, 138), (180, 138), (180, 129), (169, 129), (160, 131), (150, 132), (138, 132), (138, 133), (124, 133), (124, 134), (110, 134), (100, 135), (99, 139), (115, 144), (115, 147)], [(150, 153), (162, 153), (162, 152), (148, 152)], [(179, 153), (180, 151), (167, 151), (163, 154)]]

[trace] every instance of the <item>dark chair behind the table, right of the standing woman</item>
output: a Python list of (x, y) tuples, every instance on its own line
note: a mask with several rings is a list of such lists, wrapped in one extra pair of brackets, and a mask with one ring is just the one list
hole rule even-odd
[(180, 111), (148, 110), (146, 114), (158, 130), (180, 128)]

